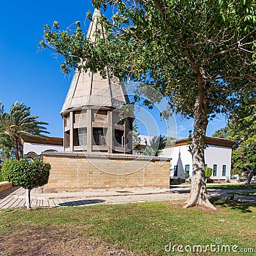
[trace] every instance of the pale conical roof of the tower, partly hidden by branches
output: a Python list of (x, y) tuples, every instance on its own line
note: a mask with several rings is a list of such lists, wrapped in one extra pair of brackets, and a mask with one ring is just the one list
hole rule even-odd
[[(104, 29), (102, 28), (99, 17), (101, 17), (100, 10), (95, 9), (92, 21), (90, 23), (87, 38), (95, 42), (95, 30), (102, 31), (100, 36), (104, 36)], [(128, 103), (125, 95), (124, 87), (119, 83), (115, 77), (110, 77), (108, 67), (106, 67), (107, 77), (104, 79), (97, 72), (93, 74), (90, 70), (76, 70), (67, 97), (61, 109), (61, 115), (72, 111), (72, 109), (92, 108), (92, 107), (120, 107)]]

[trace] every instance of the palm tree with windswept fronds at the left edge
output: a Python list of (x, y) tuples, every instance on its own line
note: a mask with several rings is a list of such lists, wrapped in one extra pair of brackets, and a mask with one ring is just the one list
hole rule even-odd
[(38, 116), (31, 116), (30, 108), (23, 102), (14, 102), (10, 114), (4, 113), (0, 102), (0, 138), (10, 138), (15, 149), (15, 159), (19, 160), (20, 140), (26, 137), (42, 137), (46, 130), (45, 122), (38, 122)]

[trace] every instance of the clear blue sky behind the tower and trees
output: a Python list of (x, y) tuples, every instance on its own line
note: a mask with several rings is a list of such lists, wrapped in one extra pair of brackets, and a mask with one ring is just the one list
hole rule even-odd
[[(0, 101), (6, 111), (13, 102), (24, 102), (32, 115), (48, 122), (50, 136), (62, 137), (60, 110), (71, 83), (72, 74), (63, 76), (60, 60), (50, 51), (38, 51), (45, 24), (60, 22), (61, 29), (76, 20), (84, 22), (86, 12), (92, 10), (86, 1), (2, 1), (0, 10)], [(176, 116), (177, 138), (188, 136), (193, 120), (180, 120)], [(220, 116), (210, 122), (207, 135), (225, 126)], [(141, 129), (141, 131), (143, 131)]]

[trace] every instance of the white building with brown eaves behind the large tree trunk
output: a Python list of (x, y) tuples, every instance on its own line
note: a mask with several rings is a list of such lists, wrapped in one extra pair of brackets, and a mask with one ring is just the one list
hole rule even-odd
[[(174, 147), (163, 150), (164, 157), (172, 158), (170, 177), (173, 179), (184, 179), (185, 173), (192, 174), (192, 156), (187, 140), (177, 140)], [(205, 166), (212, 168), (211, 179), (225, 182), (226, 177), (230, 179), (232, 147), (237, 141), (206, 137), (205, 142)]]

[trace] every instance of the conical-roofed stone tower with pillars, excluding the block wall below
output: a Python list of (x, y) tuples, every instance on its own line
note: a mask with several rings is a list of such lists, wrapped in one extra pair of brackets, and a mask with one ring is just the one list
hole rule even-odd
[[(104, 36), (99, 23), (101, 13), (95, 10), (87, 38), (95, 42), (95, 30)], [(133, 114), (120, 120), (120, 108), (129, 103), (125, 88), (118, 79), (90, 70), (76, 70), (61, 109), (65, 152), (132, 153)]]

